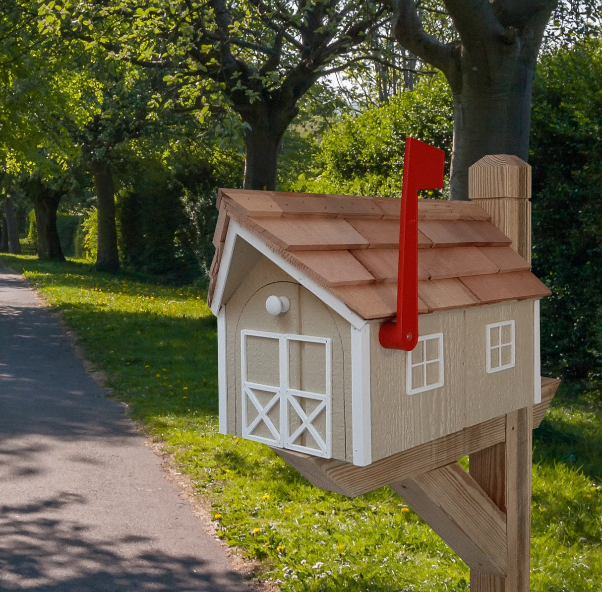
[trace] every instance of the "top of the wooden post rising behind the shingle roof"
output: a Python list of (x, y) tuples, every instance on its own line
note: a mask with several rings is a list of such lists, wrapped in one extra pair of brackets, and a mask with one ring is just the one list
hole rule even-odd
[(512, 249), (531, 261), (531, 167), (507, 154), (481, 158), (468, 169), (468, 197), (491, 214)]

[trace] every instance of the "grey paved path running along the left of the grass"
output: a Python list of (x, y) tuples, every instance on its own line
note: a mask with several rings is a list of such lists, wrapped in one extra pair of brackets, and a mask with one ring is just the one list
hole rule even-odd
[(54, 317), (0, 267), (0, 590), (249, 589)]

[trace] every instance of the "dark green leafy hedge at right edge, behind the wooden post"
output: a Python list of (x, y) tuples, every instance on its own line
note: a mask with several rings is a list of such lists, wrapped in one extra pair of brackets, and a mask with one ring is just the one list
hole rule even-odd
[(533, 267), (548, 372), (602, 372), (602, 45), (589, 39), (546, 55), (532, 111)]

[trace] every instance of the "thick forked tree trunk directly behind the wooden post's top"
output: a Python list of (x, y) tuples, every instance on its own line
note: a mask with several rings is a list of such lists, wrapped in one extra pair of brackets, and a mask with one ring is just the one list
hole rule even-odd
[(488, 154), (527, 160), (533, 73), (558, 0), (445, 0), (459, 40), (424, 31), (415, 0), (395, 0), (400, 44), (445, 74), (454, 96), (450, 199), (468, 199), (468, 167)]

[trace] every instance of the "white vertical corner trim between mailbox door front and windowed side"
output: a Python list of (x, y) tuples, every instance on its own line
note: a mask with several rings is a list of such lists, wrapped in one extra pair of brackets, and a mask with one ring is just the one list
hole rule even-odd
[(353, 464), (372, 462), (370, 413), (370, 324), (351, 328), (351, 407)]

